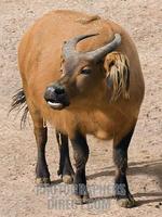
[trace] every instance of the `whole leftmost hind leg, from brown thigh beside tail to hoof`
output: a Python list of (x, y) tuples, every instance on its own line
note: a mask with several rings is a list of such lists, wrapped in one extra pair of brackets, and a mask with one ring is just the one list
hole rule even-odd
[(33, 122), (33, 132), (37, 142), (37, 166), (36, 182), (38, 186), (45, 187), (51, 183), (50, 173), (45, 158), (45, 144), (48, 141), (48, 127), (43, 126), (43, 118), (40, 112), (28, 103), (29, 112)]

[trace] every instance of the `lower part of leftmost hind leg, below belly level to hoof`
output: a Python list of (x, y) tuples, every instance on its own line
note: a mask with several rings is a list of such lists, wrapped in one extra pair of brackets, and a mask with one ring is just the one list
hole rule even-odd
[(46, 186), (50, 183), (50, 173), (45, 159), (45, 144), (48, 140), (48, 128), (35, 127), (35, 136), (38, 148), (38, 159), (36, 167), (37, 183)]

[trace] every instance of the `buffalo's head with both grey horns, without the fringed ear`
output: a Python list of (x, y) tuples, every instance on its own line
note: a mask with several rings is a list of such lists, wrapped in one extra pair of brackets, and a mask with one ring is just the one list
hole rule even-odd
[(95, 102), (97, 92), (106, 78), (104, 72), (104, 59), (120, 43), (121, 37), (114, 35), (114, 39), (108, 44), (90, 52), (78, 52), (76, 46), (79, 41), (97, 36), (78, 36), (64, 43), (62, 77), (59, 80), (46, 87), (44, 99), (55, 110), (62, 110), (71, 104), (77, 106), (83, 102)]

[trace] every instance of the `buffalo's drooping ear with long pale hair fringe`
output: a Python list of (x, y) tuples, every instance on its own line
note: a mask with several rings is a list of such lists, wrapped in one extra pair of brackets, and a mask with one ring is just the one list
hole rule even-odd
[(111, 52), (105, 56), (104, 68), (106, 71), (107, 85), (112, 88), (111, 101), (120, 97), (130, 99), (130, 63), (125, 54)]

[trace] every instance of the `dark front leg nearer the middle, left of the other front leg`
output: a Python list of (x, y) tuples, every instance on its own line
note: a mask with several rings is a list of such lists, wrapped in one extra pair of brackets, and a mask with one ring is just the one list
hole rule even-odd
[(76, 161), (75, 174), (75, 201), (78, 204), (85, 203), (89, 199), (86, 189), (85, 164), (89, 158), (89, 146), (86, 139), (80, 132), (77, 132), (71, 139), (73, 156)]

